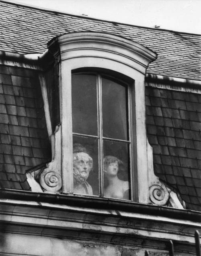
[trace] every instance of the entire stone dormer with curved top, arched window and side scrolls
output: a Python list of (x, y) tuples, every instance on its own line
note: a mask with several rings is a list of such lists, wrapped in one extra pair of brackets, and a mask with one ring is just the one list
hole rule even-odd
[[(156, 54), (125, 38), (94, 32), (56, 37), (48, 48), (59, 68), (54, 89), (40, 75), (47, 127), (55, 131), (52, 161), (29, 173), (29, 183), (35, 180), (40, 191), (66, 196), (171, 202), (183, 208), (154, 175), (146, 136), (144, 79)], [(52, 104), (45, 96), (50, 92)], [(55, 116), (48, 114), (53, 109), (59, 110)]]

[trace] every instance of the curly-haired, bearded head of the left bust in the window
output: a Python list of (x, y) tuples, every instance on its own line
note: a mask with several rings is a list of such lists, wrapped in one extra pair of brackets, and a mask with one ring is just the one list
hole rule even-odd
[(73, 153), (74, 183), (81, 184), (88, 179), (93, 167), (92, 158), (84, 152)]

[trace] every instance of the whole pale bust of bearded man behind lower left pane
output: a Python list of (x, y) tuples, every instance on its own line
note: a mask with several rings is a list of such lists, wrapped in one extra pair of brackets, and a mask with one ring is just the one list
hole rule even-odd
[(92, 195), (92, 187), (86, 181), (93, 167), (93, 159), (81, 144), (73, 145), (74, 194)]

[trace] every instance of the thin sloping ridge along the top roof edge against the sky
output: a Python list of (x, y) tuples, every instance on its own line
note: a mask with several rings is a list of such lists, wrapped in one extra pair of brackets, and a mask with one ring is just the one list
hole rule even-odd
[(174, 32), (174, 33), (176, 32), (176, 33), (180, 33), (180, 34), (201, 36), (201, 34), (196, 34), (196, 33), (180, 32), (180, 31), (174, 31), (174, 30), (171, 30), (171, 29), (156, 29), (156, 28), (152, 28), (152, 27), (132, 25), (132, 24), (122, 23), (122, 22), (118, 22), (118, 21), (109, 21), (109, 20), (98, 19), (98, 18), (93, 18), (93, 17), (89, 17), (89, 16), (76, 15), (76, 14), (72, 14), (72, 13), (68, 13), (68, 12), (53, 10), (53, 9), (50, 9), (50, 8), (41, 8), (39, 6), (33, 6), (31, 4), (23, 4), (23, 3), (20, 3), (20, 2), (10, 2), (9, 0), (0, 0), (0, 2), (6, 3), (6, 4), (12, 4), (12, 5), (16, 5), (16, 6), (23, 6), (23, 7), (26, 7), (26, 8), (37, 9), (37, 10), (41, 10), (41, 11), (49, 11), (49, 12), (54, 12), (54, 13), (60, 13), (60, 14), (63, 14), (63, 15), (70, 15), (70, 16), (79, 17), (79, 18), (83, 18), (83, 19), (92, 19), (92, 20), (97, 20), (97, 21), (109, 22), (109, 23), (113, 23), (113, 24), (116, 23), (116, 24), (120, 24), (120, 25), (127, 25), (127, 26), (131, 26), (131, 27), (139, 27), (139, 28), (155, 30), (155, 31), (169, 31), (169, 32)]

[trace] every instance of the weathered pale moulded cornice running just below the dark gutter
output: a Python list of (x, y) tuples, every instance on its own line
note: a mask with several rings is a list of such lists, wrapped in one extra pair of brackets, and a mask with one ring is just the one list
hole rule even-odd
[[(173, 239), (174, 242), (181, 244), (194, 244), (195, 229), (201, 227), (197, 222), (149, 214), (88, 209), (43, 202), (27, 201), (25, 204), (25, 201), (6, 199), (1, 199), (0, 203), (2, 203), (0, 219), (6, 225), (10, 225), (9, 233), (16, 233), (16, 229), (12, 231), (12, 224), (14, 224), (27, 227), (23, 229), (23, 233), (27, 235), (32, 234), (29, 226), (34, 226), (36, 232), (41, 228), (59, 229), (61, 237), (65, 235), (65, 231), (79, 230), (109, 235), (137, 234), (138, 237), (150, 237), (158, 241)], [(19, 229), (17, 233), (21, 232)], [(47, 233), (45, 236), (49, 235), (54, 237), (54, 232)]]

